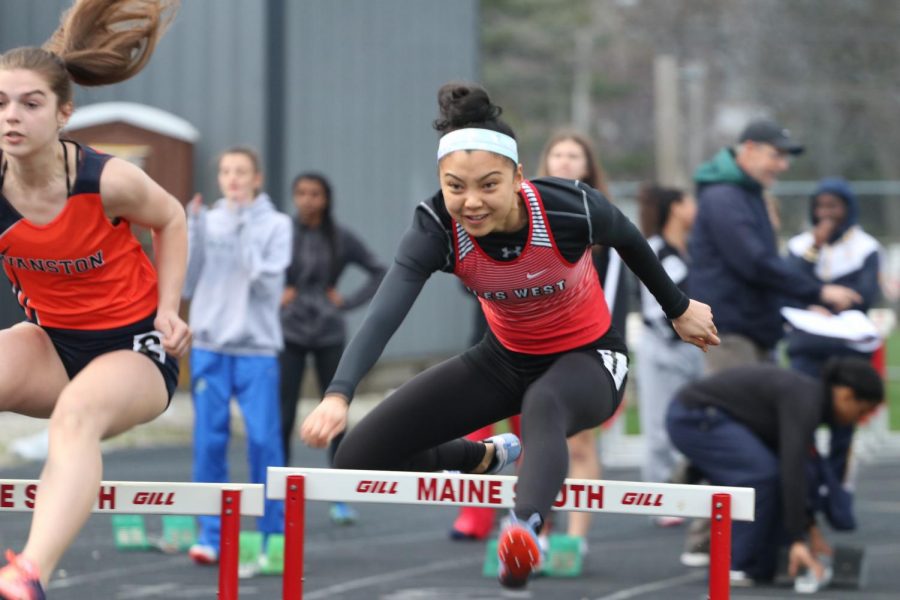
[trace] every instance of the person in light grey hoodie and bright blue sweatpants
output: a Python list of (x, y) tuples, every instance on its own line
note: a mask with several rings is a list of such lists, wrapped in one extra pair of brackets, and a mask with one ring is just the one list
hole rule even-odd
[[(279, 306), (291, 262), (290, 218), (260, 191), (262, 172), (253, 150), (230, 148), (219, 158), (223, 198), (207, 210), (194, 196), (188, 207), (194, 401), (194, 481), (228, 481), (231, 398), (237, 399), (248, 440), (250, 480), (265, 483), (266, 468), (283, 466), (278, 352), (284, 338)], [(218, 561), (219, 517), (199, 518), (194, 562)], [(281, 502), (267, 500), (259, 530), (284, 529)]]

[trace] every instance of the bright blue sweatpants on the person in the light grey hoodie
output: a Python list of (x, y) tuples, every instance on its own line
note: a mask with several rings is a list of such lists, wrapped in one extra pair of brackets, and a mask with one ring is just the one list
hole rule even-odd
[[(247, 432), (250, 481), (266, 482), (266, 467), (284, 466), (281, 448), (278, 358), (191, 351), (194, 400), (194, 481), (228, 481), (231, 398), (237, 399)], [(201, 516), (198, 542), (219, 547), (219, 517)], [(284, 503), (266, 500), (257, 521), (263, 534), (284, 531)]]

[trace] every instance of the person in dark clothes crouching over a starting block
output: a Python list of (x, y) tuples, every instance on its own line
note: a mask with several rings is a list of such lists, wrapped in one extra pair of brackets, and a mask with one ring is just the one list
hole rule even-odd
[(832, 359), (816, 379), (753, 365), (677, 392), (666, 417), (675, 447), (710, 484), (756, 490), (754, 521), (732, 525), (733, 582), (771, 581), (785, 539), (790, 574), (803, 567), (823, 579), (810, 548), (807, 461), (814, 434), (822, 424), (858, 423), (883, 398), (881, 377), (856, 357)]

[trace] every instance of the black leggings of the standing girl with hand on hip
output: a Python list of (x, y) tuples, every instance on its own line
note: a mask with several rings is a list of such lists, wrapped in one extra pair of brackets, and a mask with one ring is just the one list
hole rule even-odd
[[(306, 370), (306, 355), (313, 355), (316, 378), (319, 380), (319, 393), (324, 396), (325, 388), (334, 377), (343, 350), (342, 345), (307, 348), (285, 342), (279, 359), (281, 363), (281, 442), (284, 444), (285, 465), (291, 464), (291, 441), (294, 435), (294, 423), (297, 419), (297, 400), (300, 395), (300, 386), (303, 383), (303, 372)], [(341, 443), (341, 438), (343, 435), (331, 440), (328, 447), (329, 462), (334, 461), (334, 452)]]

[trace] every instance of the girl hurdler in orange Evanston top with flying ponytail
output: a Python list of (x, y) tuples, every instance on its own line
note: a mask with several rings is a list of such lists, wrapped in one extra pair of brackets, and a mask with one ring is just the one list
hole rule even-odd
[[(138, 73), (174, 8), (80, 0), (42, 48), (0, 54), (0, 247), (26, 318), (0, 331), (0, 410), (50, 419), (28, 541), (0, 569), (6, 600), (45, 597), (97, 499), (100, 442), (166, 409), (191, 342), (181, 204), (127, 161), (60, 138), (72, 83)], [(153, 232), (155, 268), (131, 223)]]

